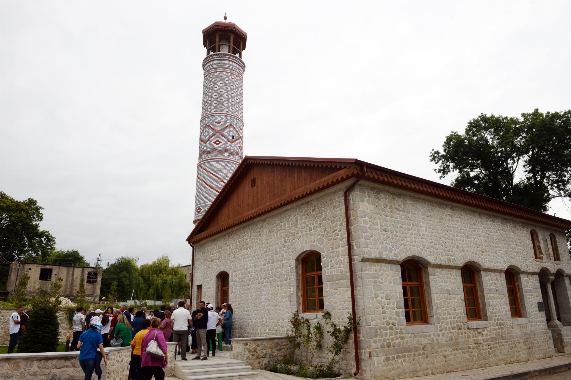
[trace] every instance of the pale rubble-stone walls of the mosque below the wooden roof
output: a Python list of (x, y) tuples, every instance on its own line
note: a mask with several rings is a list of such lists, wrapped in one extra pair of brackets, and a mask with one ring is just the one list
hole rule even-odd
[[(288, 333), (291, 314), (301, 313), (299, 259), (309, 250), (321, 253), (325, 310), (338, 325), (346, 323), (351, 311), (343, 209), (347, 185), (196, 244), (192, 291), (196, 294), (196, 285), (202, 285), (203, 300), (218, 303), (217, 276), (229, 273), (235, 338)], [(529, 231), (535, 229), (541, 241), (554, 233), (564, 247), (562, 231), (367, 182), (353, 189), (349, 213), (360, 378), (414, 377), (554, 355), (545, 312), (537, 307), (542, 300), (538, 272), (558, 272), (569, 281), (571, 260), (565, 254), (559, 262), (536, 260)], [(404, 260), (424, 267), (427, 325), (405, 322)], [(482, 321), (467, 321), (460, 275), (465, 264), (477, 272)], [(522, 318), (509, 312), (507, 268), (517, 273)], [(564, 290), (561, 297), (569, 297)], [(321, 317), (300, 315), (312, 323)], [(325, 339), (324, 346), (328, 343)], [(250, 357), (250, 346), (240, 345)], [(341, 374), (355, 369), (352, 347), (351, 337), (340, 358)], [(325, 362), (324, 349), (316, 363)]]

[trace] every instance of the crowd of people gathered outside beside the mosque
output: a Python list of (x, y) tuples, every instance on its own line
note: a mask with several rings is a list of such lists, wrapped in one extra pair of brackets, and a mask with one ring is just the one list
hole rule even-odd
[[(18, 309), (15, 314), (18, 318), (14, 322), (10, 320), (10, 328), (13, 324), (19, 325), (16, 321), (20, 321), (22, 310)], [(153, 377), (162, 380), (163, 369), (168, 365), (167, 342), (178, 342), (178, 354), (183, 361), (187, 360), (187, 352), (196, 355), (193, 360), (207, 360), (210, 354), (215, 357), (217, 346), (222, 351), (223, 345), (231, 343), (233, 316), (232, 305), (224, 303), (214, 308), (204, 301), (200, 301), (199, 308), (192, 313), (186, 300), (178, 302), (176, 308), (171, 303), (168, 308), (163, 305), (149, 312), (144, 307), (136, 312), (126, 306), (115, 310), (78, 307), (72, 318), (70, 349), (80, 351), (79, 365), (86, 380), (91, 379), (94, 372), (101, 374), (102, 361), (107, 365), (104, 347), (127, 346), (132, 350), (129, 380)]]

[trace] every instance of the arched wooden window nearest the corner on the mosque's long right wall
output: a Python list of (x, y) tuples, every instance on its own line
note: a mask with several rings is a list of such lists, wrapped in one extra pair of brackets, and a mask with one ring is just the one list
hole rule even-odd
[(404, 317), (407, 325), (428, 324), (423, 268), (415, 262), (405, 261), (400, 265), (400, 276), (403, 280)]

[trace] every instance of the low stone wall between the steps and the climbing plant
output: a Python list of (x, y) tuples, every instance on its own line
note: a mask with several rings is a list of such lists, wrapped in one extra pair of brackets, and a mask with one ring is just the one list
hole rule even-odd
[(244, 360), (252, 369), (268, 369), (272, 359), (291, 353), (286, 336), (259, 338), (232, 338), (232, 359)]

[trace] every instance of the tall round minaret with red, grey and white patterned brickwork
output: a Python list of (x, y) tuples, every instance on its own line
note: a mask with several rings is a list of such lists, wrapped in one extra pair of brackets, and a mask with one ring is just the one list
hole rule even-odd
[(196, 166), (194, 223), (238, 167), (243, 157), (242, 79), (246, 64), (245, 31), (233, 22), (217, 21), (202, 30), (206, 58), (200, 144)]

